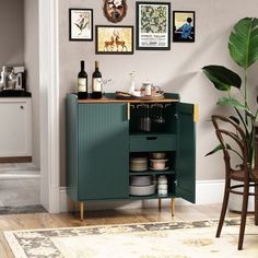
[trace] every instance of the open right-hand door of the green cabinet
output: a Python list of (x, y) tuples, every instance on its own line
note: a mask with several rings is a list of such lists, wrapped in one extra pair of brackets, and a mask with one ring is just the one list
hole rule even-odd
[(196, 139), (194, 105), (177, 104), (176, 195), (196, 202)]

